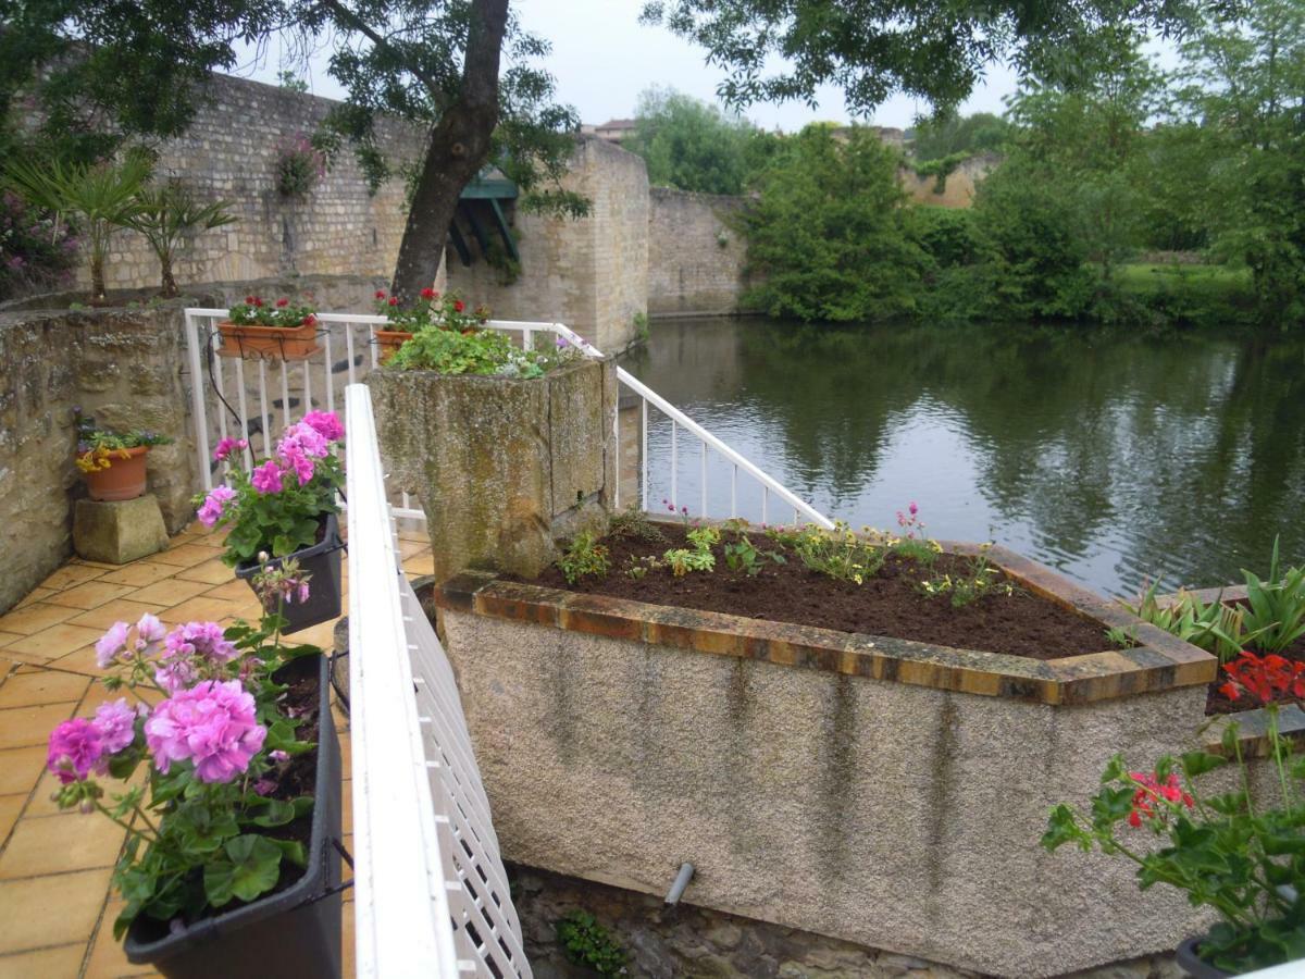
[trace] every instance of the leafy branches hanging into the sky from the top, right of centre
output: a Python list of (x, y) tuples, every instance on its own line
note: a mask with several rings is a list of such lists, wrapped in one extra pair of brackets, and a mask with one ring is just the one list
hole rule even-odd
[[(864, 115), (894, 93), (959, 104), (985, 67), (1014, 61), (1073, 82), (1103, 29), (1171, 30), (1197, 0), (646, 0), (642, 18), (702, 46), (731, 106), (843, 90)], [(776, 65), (779, 67), (776, 70)]]

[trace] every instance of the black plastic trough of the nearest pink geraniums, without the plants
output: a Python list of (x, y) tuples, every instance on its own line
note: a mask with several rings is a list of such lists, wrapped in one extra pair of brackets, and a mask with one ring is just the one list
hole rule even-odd
[[(296, 660), (286, 670), (315, 670), (320, 681), (317, 785), (304, 876), (282, 892), (196, 922), (164, 937), (137, 920), (123, 950), (136, 965), (154, 966), (170, 979), (338, 979), (341, 974), (339, 739), (330, 713), (326, 657)], [(157, 924), (154, 924), (157, 929)]]

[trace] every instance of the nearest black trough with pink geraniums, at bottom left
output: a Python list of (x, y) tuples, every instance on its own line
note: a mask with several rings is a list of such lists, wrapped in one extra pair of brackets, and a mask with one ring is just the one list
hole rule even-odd
[[(307, 577), (287, 563), (260, 576), (270, 607)], [(153, 615), (95, 644), (111, 691), (50, 735), (60, 808), (127, 830), (114, 871), (114, 922), (130, 962), (166, 976), (338, 976), (339, 744), (326, 658), (282, 642), (275, 612), (257, 627)], [(145, 778), (133, 778), (141, 769)], [(116, 787), (110, 779), (120, 781)]]

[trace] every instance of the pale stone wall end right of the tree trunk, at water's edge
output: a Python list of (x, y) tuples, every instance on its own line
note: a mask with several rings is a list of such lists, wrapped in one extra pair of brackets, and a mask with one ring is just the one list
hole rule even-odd
[[(572, 219), (527, 214), (509, 219), (521, 251), (521, 273), (483, 260), (470, 266), (448, 252), (448, 283), (496, 317), (565, 322), (603, 352), (636, 337), (646, 312), (649, 277), (649, 184), (643, 161), (598, 138), (581, 138), (562, 187), (590, 200), (590, 214)], [(474, 248), (474, 245), (472, 245)]]

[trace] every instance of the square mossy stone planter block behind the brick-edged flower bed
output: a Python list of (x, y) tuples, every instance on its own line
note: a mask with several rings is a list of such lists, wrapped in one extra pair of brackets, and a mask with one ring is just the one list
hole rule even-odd
[(616, 488), (616, 367), (534, 380), (385, 368), (367, 379), (390, 484), (420, 499), (435, 573), (538, 574), (553, 540), (602, 517)]

